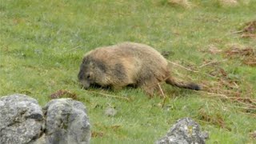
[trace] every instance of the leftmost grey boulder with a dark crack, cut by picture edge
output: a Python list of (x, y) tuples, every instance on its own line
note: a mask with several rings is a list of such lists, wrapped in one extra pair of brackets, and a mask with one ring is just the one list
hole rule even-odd
[(13, 94), (0, 98), (0, 143), (29, 143), (43, 132), (42, 108), (34, 98)]

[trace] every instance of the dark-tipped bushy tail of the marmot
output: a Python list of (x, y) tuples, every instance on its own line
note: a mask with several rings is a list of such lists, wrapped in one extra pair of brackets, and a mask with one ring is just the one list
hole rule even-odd
[(201, 90), (201, 87), (198, 86), (198, 84), (195, 84), (193, 82), (190, 82), (190, 83), (175, 82), (175, 80), (173, 78), (168, 78), (168, 79), (166, 79), (166, 83), (170, 84), (171, 86), (178, 86), (178, 87), (185, 88), (185, 89)]

